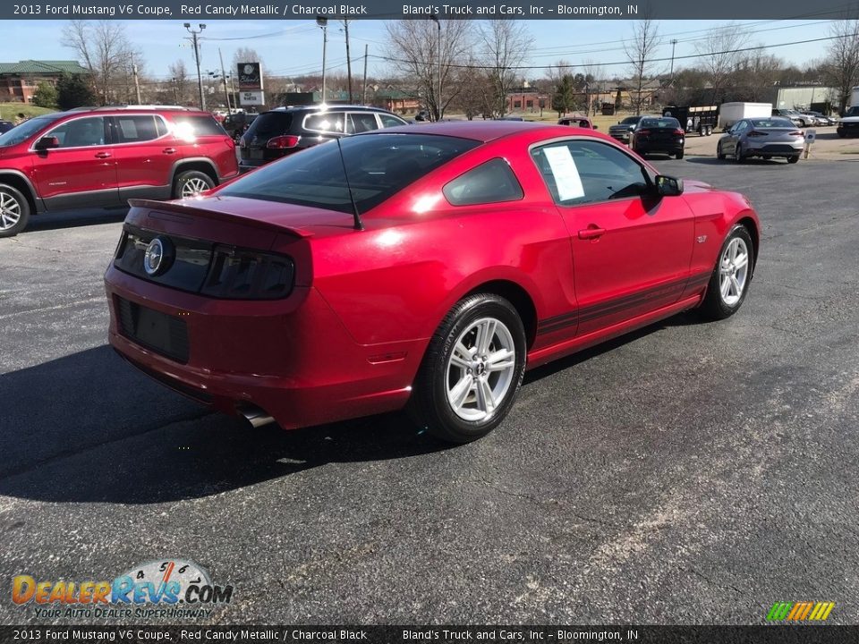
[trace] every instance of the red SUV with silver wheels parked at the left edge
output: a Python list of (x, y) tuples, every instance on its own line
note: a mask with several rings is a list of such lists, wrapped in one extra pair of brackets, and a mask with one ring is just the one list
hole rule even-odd
[(0, 237), (30, 213), (182, 199), (238, 174), (235, 144), (211, 114), (183, 107), (86, 107), (0, 135)]

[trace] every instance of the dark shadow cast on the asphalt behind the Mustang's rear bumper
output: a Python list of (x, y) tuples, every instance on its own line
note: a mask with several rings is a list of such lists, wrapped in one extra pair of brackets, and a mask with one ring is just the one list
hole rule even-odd
[(157, 385), (107, 346), (0, 381), (0, 495), (50, 503), (200, 498), (327, 463), (447, 448), (402, 413), (254, 429)]

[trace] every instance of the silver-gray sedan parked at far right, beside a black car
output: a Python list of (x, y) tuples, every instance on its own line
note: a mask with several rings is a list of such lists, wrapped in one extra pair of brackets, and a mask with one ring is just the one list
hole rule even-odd
[(805, 135), (787, 119), (752, 118), (737, 121), (725, 132), (719, 139), (716, 156), (732, 157), (737, 163), (749, 157), (784, 157), (787, 163), (796, 163), (804, 145)]

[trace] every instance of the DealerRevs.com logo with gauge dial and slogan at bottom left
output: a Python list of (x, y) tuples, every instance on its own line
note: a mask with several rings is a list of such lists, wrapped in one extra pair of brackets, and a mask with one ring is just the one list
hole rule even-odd
[(142, 563), (113, 581), (26, 574), (12, 581), (13, 602), (33, 606), (36, 617), (208, 617), (211, 606), (232, 599), (233, 586), (212, 583), (204, 568), (182, 559)]

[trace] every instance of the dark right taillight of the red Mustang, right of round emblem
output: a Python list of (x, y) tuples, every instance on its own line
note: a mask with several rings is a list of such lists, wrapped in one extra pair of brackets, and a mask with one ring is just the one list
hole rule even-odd
[(293, 291), (291, 258), (216, 246), (200, 292), (225, 300), (277, 300)]

